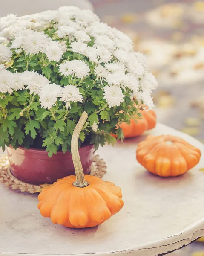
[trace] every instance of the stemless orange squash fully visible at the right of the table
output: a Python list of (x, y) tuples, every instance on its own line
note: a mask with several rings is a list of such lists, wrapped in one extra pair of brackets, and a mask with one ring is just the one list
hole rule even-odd
[(172, 135), (149, 135), (136, 150), (138, 163), (161, 177), (187, 172), (199, 163), (200, 157), (198, 148)]

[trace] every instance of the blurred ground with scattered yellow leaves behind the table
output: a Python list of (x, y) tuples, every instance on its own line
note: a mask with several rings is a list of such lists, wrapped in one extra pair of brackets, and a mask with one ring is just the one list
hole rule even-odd
[[(204, 1), (91, 2), (101, 21), (128, 34), (135, 50), (147, 55), (159, 82), (154, 93), (158, 121), (203, 142)], [(204, 256), (204, 244), (195, 242), (170, 255)]]

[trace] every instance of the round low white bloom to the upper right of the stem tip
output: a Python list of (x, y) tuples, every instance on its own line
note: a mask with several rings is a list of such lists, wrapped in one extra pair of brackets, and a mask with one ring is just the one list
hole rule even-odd
[(109, 105), (109, 108), (120, 106), (124, 102), (124, 94), (117, 85), (106, 85), (104, 88), (104, 99)]

